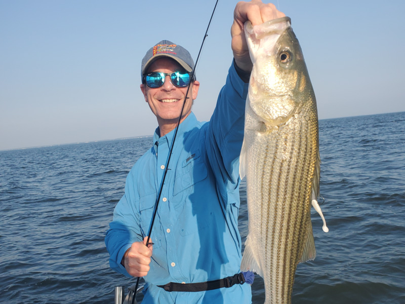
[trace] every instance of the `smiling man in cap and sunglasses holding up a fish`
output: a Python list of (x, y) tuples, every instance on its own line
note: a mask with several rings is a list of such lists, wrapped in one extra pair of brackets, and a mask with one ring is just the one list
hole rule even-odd
[[(194, 62), (185, 49), (161, 41), (142, 60), (141, 91), (158, 128), (153, 147), (128, 174), (105, 242), (111, 268), (144, 277), (144, 303), (251, 303), (251, 287), (240, 284), (243, 278), (238, 276), (238, 157), (252, 70), (243, 25), (282, 16), (259, 0), (236, 5), (231, 27), (234, 60), (209, 123), (199, 123), (191, 111), (199, 82), (189, 79)], [(160, 186), (152, 244), (146, 246)], [(228, 286), (223, 286), (225, 278)]]

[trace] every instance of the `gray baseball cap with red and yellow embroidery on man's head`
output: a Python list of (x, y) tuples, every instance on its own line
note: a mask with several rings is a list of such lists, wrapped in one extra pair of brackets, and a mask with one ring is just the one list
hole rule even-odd
[(143, 77), (146, 69), (153, 61), (163, 56), (173, 58), (182, 67), (184, 67), (187, 72), (191, 72), (194, 69), (194, 61), (191, 58), (190, 53), (185, 48), (176, 45), (169, 40), (162, 40), (151, 47), (146, 52), (145, 57), (143, 57), (141, 66), (141, 77)]

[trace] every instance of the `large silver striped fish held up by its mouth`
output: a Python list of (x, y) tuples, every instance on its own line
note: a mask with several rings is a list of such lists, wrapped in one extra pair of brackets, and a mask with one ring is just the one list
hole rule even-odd
[(329, 230), (317, 203), (316, 99), (289, 17), (256, 26), (247, 21), (245, 35), (253, 69), (239, 157), (248, 201), (240, 269), (263, 278), (265, 304), (288, 304), (298, 263), (316, 255), (311, 205)]

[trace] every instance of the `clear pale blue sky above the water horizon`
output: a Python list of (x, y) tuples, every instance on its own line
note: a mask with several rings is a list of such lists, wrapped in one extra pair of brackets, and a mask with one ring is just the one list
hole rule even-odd
[[(141, 60), (161, 40), (196, 60), (215, 0), (0, 0), (0, 150), (152, 135)], [(209, 121), (232, 62), (220, 0), (196, 67)], [(276, 0), (292, 20), (319, 119), (405, 111), (403, 1)]]

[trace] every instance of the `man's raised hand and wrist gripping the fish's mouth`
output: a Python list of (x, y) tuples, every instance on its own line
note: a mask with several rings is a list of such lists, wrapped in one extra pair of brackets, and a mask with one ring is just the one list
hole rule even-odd
[(249, 20), (255, 26), (284, 16), (286, 15), (279, 12), (273, 4), (264, 4), (260, 0), (238, 2), (236, 4), (231, 35), (233, 58), (235, 58), (236, 65), (240, 69), (248, 72), (253, 67), (245, 38), (244, 23)]

